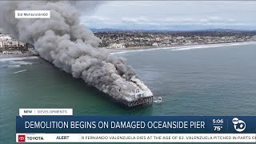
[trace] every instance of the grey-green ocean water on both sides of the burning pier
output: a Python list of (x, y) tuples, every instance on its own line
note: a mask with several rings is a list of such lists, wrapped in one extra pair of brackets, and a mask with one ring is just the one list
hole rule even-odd
[(255, 44), (118, 53), (162, 97), (136, 111), (41, 58), (0, 59), (0, 143), (15, 142), (19, 108), (73, 108), (74, 115), (256, 115), (255, 54)]

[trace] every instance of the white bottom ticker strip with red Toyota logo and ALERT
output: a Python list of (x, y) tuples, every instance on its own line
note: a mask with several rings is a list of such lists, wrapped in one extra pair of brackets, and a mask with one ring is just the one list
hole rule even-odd
[(253, 142), (255, 134), (16, 134), (16, 142)]

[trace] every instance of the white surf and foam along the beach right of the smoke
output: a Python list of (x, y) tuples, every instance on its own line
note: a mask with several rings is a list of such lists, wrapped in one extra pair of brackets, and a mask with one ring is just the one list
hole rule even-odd
[(190, 45), (190, 46), (161, 46), (161, 47), (150, 47), (150, 48), (127, 48), (122, 50), (110, 50), (110, 54), (124, 54), (128, 52), (136, 51), (146, 51), (146, 50), (193, 50), (193, 49), (206, 49), (206, 48), (216, 48), (222, 46), (236, 46), (236, 45), (250, 45), (256, 44), (256, 42), (232, 42), (232, 43), (218, 43), (218, 44), (206, 44), (206, 45)]

